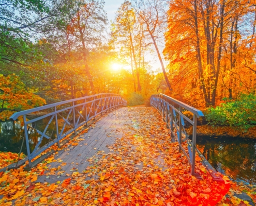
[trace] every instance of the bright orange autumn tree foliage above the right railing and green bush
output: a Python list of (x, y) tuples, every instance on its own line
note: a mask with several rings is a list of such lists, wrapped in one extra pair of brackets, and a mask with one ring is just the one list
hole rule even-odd
[(251, 1), (170, 1), (163, 53), (177, 98), (201, 108), (255, 91), (255, 16)]

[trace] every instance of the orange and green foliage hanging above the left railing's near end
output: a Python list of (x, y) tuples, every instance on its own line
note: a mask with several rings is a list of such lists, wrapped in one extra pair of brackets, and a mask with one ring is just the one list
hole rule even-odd
[(46, 104), (46, 101), (28, 91), (16, 75), (5, 77), (0, 74), (0, 119), (10, 117), (14, 110), (27, 110)]

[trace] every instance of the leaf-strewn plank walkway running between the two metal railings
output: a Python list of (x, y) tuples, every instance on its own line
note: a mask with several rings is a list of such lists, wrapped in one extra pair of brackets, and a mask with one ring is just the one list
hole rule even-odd
[[(27, 192), (18, 193), (22, 199), (15, 205), (39, 198), (37, 205), (215, 205), (229, 184), (213, 181), (196, 162), (202, 180), (191, 177), (187, 158), (153, 107), (121, 108), (102, 116), (29, 174), (21, 172), (18, 181), (32, 178), (33, 183), (23, 183)], [(11, 174), (15, 179), (18, 173)]]

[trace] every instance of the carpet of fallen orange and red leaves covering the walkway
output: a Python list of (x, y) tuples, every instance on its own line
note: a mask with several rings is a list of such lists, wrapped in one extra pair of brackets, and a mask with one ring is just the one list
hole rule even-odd
[(108, 145), (109, 153), (98, 151), (99, 157), (89, 158), (83, 173), (74, 169), (63, 181), (33, 183), (39, 175), (64, 173), (65, 163), (48, 168), (48, 163), (59, 161), (51, 156), (29, 172), (21, 167), (1, 174), (0, 204), (215, 205), (222, 199), (229, 179), (219, 174), (225, 183), (213, 181), (200, 158), (196, 171), (202, 179), (191, 176), (185, 155), (171, 143), (170, 131), (155, 109), (129, 108), (128, 114), (131, 124), (116, 129), (122, 138)]

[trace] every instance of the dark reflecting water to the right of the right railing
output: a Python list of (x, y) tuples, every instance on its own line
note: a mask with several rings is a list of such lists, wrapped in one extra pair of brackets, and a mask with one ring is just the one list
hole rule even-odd
[(220, 173), (236, 182), (256, 184), (256, 140), (197, 137), (197, 147)]

